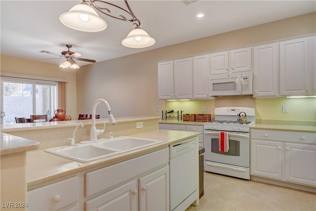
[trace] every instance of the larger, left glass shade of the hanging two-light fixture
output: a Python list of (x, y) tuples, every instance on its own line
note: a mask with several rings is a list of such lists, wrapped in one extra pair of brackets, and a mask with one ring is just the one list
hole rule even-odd
[(65, 26), (82, 32), (101, 32), (108, 27), (97, 12), (84, 2), (61, 14), (59, 20)]

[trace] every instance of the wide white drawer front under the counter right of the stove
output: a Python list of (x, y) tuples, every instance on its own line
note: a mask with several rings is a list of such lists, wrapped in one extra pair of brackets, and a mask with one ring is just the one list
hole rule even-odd
[(316, 144), (315, 132), (251, 129), (251, 139)]

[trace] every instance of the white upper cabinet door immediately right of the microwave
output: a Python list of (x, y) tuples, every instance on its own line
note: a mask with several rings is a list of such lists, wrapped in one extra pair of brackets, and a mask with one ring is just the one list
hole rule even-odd
[(278, 91), (278, 43), (253, 48), (253, 96), (276, 97)]

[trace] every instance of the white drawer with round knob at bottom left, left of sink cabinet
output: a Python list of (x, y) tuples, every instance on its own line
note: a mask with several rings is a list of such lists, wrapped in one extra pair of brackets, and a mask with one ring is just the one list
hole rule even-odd
[(79, 177), (55, 182), (28, 191), (28, 210), (55, 211), (77, 202), (79, 199)]

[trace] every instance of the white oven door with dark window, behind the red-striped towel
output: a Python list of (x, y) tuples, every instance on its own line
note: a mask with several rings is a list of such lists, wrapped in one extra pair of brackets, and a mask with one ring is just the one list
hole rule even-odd
[(249, 167), (249, 133), (229, 132), (229, 151), (218, 149), (219, 131), (204, 131), (204, 160)]

